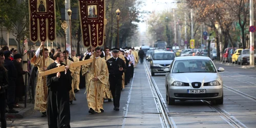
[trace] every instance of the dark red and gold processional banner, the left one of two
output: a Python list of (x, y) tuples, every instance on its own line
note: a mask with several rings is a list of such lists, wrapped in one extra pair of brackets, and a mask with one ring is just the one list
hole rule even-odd
[(30, 40), (53, 41), (56, 37), (55, 0), (29, 0)]

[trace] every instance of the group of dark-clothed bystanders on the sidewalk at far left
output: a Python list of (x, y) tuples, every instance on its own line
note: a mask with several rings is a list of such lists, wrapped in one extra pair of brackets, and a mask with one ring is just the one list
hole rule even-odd
[[(22, 55), (17, 50), (4, 46), (0, 51), (0, 115), (1, 127), (6, 127), (5, 113), (18, 113), (19, 100), (25, 96), (25, 83), (23, 75)], [(6, 109), (8, 106), (8, 110)]]

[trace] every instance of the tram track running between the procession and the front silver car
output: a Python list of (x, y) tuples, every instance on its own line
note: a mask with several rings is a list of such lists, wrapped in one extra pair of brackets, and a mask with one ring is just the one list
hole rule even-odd
[(168, 111), (165, 108), (163, 98), (161, 98), (161, 93), (158, 90), (158, 87), (157, 87), (154, 79), (150, 75), (151, 73), (150, 73), (150, 71), (149, 71), (149, 69), (148, 69), (148, 67), (145, 63), (144, 63), (144, 68), (145, 68), (145, 71), (146, 71), (146, 74), (147, 74), (148, 81), (150, 82), (150, 85), (152, 87), (151, 89), (152, 89), (153, 95), (155, 95), (155, 97), (156, 97), (158, 109), (161, 113), (162, 121), (164, 123), (164, 127), (175, 127), (176, 128), (177, 126), (176, 126), (174, 120), (169, 118), (169, 114), (168, 114)]

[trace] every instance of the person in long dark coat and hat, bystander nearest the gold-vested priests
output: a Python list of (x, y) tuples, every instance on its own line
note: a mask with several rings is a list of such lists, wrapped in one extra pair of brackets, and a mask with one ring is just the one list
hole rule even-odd
[(22, 68), (22, 56), (20, 54), (14, 55), (13, 64), (15, 68), (17, 69), (17, 79), (16, 79), (16, 88), (15, 88), (15, 106), (18, 107), (18, 101), (20, 98), (22, 98), (25, 95), (25, 83), (23, 79), (23, 75), (26, 74), (26, 71), (23, 71)]

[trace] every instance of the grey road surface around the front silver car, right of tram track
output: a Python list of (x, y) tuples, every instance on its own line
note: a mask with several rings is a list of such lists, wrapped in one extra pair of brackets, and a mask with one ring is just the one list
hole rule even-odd
[[(146, 63), (150, 68), (150, 63)], [(176, 127), (255, 127), (256, 72), (233, 66), (216, 64), (224, 82), (224, 103), (215, 105), (203, 100), (176, 100), (167, 105), (170, 119)], [(165, 73), (155, 74), (154, 81), (165, 100)], [(250, 97), (252, 98), (250, 98)], [(164, 101), (166, 102), (166, 101)]]

